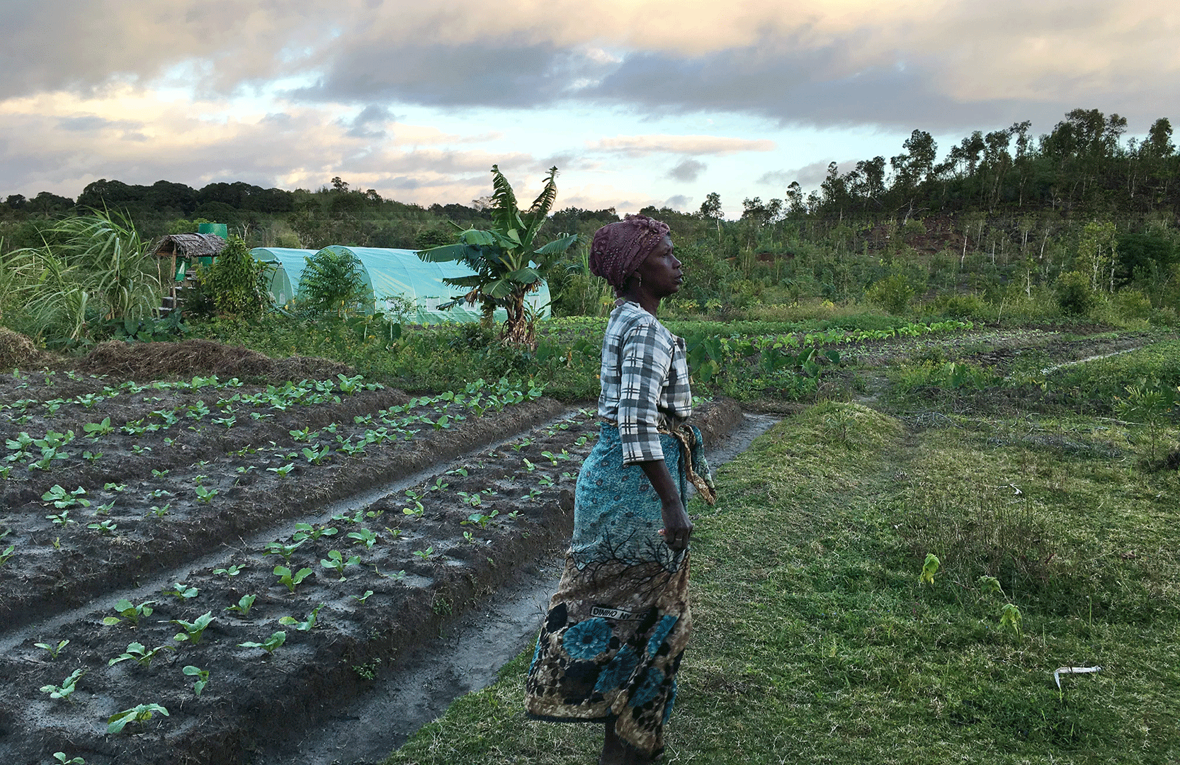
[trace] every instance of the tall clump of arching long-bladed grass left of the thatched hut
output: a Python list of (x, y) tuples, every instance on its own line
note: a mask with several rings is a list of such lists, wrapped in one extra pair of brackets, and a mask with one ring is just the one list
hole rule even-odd
[(158, 308), (156, 259), (125, 215), (93, 211), (41, 231), (41, 247), (0, 257), (0, 321), (50, 347), (88, 345), (113, 322)]

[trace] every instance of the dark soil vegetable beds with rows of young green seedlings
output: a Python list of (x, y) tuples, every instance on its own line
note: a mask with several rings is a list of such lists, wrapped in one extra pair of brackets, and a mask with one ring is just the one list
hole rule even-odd
[(330, 714), (568, 541), (595, 419), (507, 380), (0, 378), (0, 761), (241, 761)]

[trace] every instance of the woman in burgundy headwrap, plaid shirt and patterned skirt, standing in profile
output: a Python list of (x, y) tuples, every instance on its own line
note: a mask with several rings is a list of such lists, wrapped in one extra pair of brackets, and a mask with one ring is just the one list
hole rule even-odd
[(575, 491), (565, 573), (537, 638), (530, 717), (604, 722), (602, 764), (650, 763), (676, 698), (691, 633), (684, 511), (713, 485), (691, 414), (684, 341), (656, 320), (680, 290), (664, 223), (643, 215), (598, 229), (590, 270), (618, 300), (602, 345), (602, 431)]

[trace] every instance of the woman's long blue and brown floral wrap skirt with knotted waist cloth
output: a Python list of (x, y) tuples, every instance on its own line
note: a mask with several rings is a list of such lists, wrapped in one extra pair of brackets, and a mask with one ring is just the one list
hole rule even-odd
[[(708, 477), (700, 431), (688, 432), (661, 434), (682, 497), (687, 476)], [(650, 756), (663, 751), (693, 632), (688, 550), (664, 544), (661, 506), (643, 470), (623, 466), (618, 429), (604, 424), (578, 475), (573, 541), (525, 681), (530, 717), (614, 721), (622, 740)]]

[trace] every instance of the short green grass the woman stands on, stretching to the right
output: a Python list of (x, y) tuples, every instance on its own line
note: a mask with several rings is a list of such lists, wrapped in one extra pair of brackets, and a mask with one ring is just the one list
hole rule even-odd
[[(1109, 427), (906, 431), (828, 403), (758, 439), (717, 471), (716, 510), (690, 508), (696, 634), (668, 761), (1176, 761), (1180, 482)], [(999, 622), (1009, 599), (1021, 632)], [(1103, 672), (1058, 694), (1062, 665)], [(388, 765), (595, 761), (598, 726), (524, 719), (526, 668)]]

